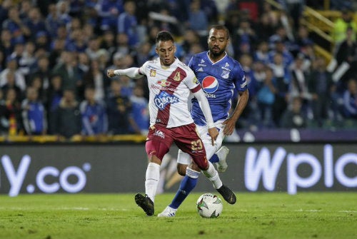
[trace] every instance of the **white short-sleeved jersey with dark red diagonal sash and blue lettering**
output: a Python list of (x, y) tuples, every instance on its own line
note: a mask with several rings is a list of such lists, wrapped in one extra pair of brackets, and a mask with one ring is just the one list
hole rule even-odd
[(171, 66), (161, 66), (160, 59), (146, 61), (139, 73), (149, 84), (150, 125), (159, 123), (174, 128), (193, 123), (188, 110), (191, 92), (201, 89), (191, 68), (178, 59)]

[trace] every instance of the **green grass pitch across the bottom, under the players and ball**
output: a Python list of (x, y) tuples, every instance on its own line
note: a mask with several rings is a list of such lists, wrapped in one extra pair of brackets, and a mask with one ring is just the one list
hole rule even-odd
[(357, 193), (238, 193), (218, 218), (201, 218), (191, 193), (175, 218), (147, 217), (128, 194), (0, 195), (0, 238), (357, 239)]

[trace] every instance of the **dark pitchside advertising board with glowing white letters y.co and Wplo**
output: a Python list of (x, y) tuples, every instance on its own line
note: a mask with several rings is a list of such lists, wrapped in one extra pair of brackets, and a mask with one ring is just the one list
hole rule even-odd
[[(236, 191), (357, 191), (357, 147), (348, 143), (228, 143), (223, 183)], [(0, 146), (0, 193), (144, 192), (144, 144)], [(161, 175), (175, 171), (177, 148)], [(171, 169), (169, 169), (171, 168)], [(162, 190), (174, 192), (178, 183)], [(196, 191), (212, 191), (202, 175)]]

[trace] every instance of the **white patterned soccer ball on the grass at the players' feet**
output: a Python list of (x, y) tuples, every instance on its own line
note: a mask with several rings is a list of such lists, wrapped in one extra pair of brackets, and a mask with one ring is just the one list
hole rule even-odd
[(202, 194), (197, 200), (197, 212), (202, 218), (217, 218), (223, 210), (221, 198), (212, 193)]

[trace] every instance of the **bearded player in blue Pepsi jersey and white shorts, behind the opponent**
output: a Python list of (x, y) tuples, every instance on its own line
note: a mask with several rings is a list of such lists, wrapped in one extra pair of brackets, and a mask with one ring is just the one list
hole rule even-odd
[[(236, 121), (248, 102), (245, 73), (240, 63), (226, 53), (228, 42), (228, 29), (222, 25), (212, 26), (208, 35), (208, 51), (194, 55), (188, 63), (201, 83), (203, 91), (205, 91), (211, 107), (214, 125), (219, 131), (214, 146), (212, 146), (205, 118), (198, 101), (193, 98), (191, 116), (198, 127), (201, 140), (206, 148), (207, 158), (210, 158), (211, 163), (218, 165), (218, 171), (225, 171), (227, 168), (225, 157), (228, 154), (228, 148), (221, 147), (223, 138), (233, 133)], [(233, 96), (236, 95), (235, 92), (238, 92), (238, 103), (229, 114)], [(223, 160), (220, 161), (220, 158), (223, 158)], [(159, 213), (159, 217), (175, 216), (177, 208), (185, 200), (188, 193), (193, 190), (198, 180), (200, 170), (194, 165), (187, 153), (178, 151), (177, 162), (178, 173), (186, 176), (181, 181), (174, 200), (162, 213)], [(188, 167), (191, 163), (193, 165)]]

